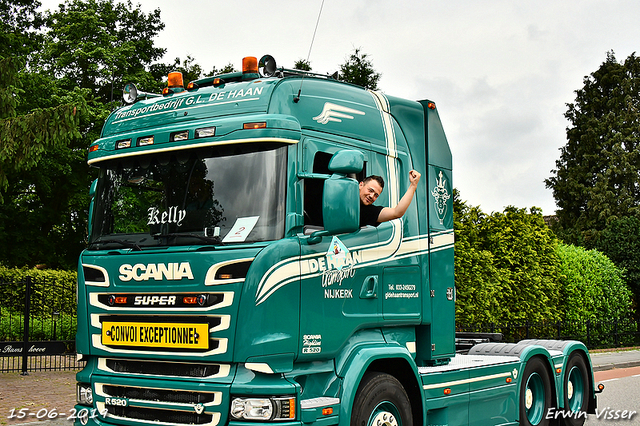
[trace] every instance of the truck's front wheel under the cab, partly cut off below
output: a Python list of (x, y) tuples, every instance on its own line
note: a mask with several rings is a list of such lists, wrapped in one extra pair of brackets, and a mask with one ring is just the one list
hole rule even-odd
[(386, 373), (364, 375), (351, 410), (351, 426), (413, 426), (411, 402), (402, 384)]

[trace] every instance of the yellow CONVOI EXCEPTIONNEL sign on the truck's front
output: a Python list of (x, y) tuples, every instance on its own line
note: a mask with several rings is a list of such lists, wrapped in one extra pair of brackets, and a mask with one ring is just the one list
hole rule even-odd
[(102, 344), (167, 349), (209, 349), (209, 324), (105, 321), (102, 323)]

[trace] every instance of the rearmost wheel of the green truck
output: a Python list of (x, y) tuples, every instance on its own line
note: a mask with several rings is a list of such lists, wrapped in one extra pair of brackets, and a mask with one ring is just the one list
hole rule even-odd
[[(589, 370), (582, 356), (574, 353), (569, 357), (562, 383), (564, 390), (564, 409), (573, 415), (563, 418), (567, 426), (582, 426), (589, 407)], [(565, 416), (563, 416), (565, 417)]]

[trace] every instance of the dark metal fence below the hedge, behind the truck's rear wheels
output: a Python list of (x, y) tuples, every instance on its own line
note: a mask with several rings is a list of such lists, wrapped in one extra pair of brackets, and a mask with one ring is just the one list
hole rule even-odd
[(579, 340), (589, 349), (640, 346), (640, 320), (603, 318), (586, 321), (456, 324), (458, 332), (501, 333), (503, 341), (523, 339)]

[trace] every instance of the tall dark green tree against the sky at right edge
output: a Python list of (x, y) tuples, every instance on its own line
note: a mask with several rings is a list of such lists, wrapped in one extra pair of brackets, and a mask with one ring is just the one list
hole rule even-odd
[(611, 220), (640, 215), (640, 58), (613, 52), (585, 77), (565, 117), (567, 143), (545, 181), (569, 242), (585, 243)]

